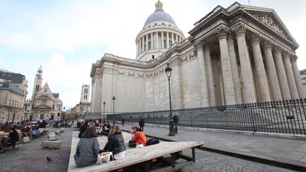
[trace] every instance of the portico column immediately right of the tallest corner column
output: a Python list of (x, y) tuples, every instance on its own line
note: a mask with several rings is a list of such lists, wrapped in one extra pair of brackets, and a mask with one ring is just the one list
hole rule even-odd
[(254, 55), (255, 70), (258, 77), (259, 94), (261, 96), (260, 101), (266, 102), (266, 101), (271, 101), (271, 98), (268, 90), (266, 70), (263, 65), (263, 58), (261, 55), (261, 48), (259, 44), (260, 44), (260, 35), (259, 33), (255, 33), (251, 40), (251, 47)]

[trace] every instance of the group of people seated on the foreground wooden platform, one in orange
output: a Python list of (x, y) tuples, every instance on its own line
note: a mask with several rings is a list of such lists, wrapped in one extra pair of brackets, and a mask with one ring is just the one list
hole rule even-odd
[[(102, 122), (102, 121), (101, 121)], [(84, 121), (79, 124), (79, 143), (76, 154), (74, 154), (75, 164), (79, 167), (95, 164), (98, 154), (111, 151), (112, 160), (123, 159), (125, 157), (125, 141), (122, 130), (118, 125), (110, 125), (108, 120), (101, 125), (100, 120)], [(124, 125), (124, 121), (123, 125)], [(136, 147), (145, 147), (147, 139), (143, 127), (145, 120), (142, 118), (139, 126), (132, 127), (132, 137), (130, 142), (135, 142)], [(97, 137), (108, 137), (108, 142), (100, 149)]]

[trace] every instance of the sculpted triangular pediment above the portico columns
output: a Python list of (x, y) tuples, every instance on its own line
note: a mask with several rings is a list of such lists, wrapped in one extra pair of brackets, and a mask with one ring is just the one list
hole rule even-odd
[(278, 35), (283, 36), (283, 38), (292, 42), (297, 47), (299, 46), (273, 9), (260, 7), (252, 8), (252, 6), (247, 6), (244, 8), (244, 10), (246, 13), (249, 13), (251, 16), (256, 18), (259, 22), (263, 23), (263, 25), (271, 28), (271, 30), (276, 32)]

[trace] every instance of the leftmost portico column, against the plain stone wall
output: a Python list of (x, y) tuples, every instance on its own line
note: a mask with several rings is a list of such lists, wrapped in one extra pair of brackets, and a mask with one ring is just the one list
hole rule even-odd
[(200, 88), (200, 105), (201, 107), (208, 107), (208, 84), (205, 72), (205, 62), (203, 54), (203, 42), (196, 42), (196, 50), (198, 51), (198, 75), (199, 75), (199, 88)]

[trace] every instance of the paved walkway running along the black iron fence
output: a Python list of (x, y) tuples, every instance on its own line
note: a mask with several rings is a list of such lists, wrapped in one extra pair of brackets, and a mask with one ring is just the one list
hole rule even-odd
[[(123, 129), (130, 131), (131, 125), (125, 123)], [(196, 130), (179, 130), (179, 134), (169, 136), (169, 128), (160, 125), (146, 125), (144, 130), (145, 134), (153, 137), (173, 141), (203, 141), (208, 149), (306, 167), (306, 139)]]

